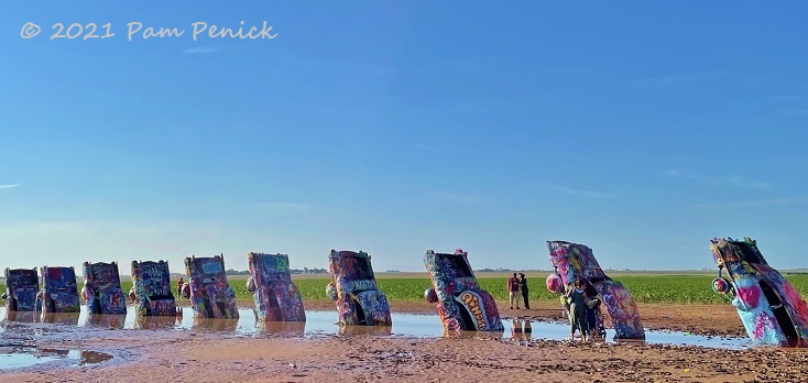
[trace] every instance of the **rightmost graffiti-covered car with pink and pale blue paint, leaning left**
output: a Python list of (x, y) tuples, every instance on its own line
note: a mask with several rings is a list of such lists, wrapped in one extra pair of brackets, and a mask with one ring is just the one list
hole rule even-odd
[[(765, 344), (808, 347), (808, 306), (768, 265), (755, 240), (713, 239), (710, 250), (719, 267), (713, 289), (732, 298), (750, 338)], [(730, 280), (721, 277), (723, 269)]]

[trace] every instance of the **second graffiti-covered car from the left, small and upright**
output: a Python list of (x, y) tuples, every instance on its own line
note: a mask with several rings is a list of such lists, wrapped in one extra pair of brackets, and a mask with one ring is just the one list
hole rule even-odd
[(81, 306), (76, 284), (76, 270), (62, 266), (42, 267), (42, 313), (79, 313)]

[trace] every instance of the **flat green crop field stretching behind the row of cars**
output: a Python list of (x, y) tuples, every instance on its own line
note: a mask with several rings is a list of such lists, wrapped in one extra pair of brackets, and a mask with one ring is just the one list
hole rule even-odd
[[(531, 300), (557, 300), (558, 296), (550, 294), (544, 286), (547, 274), (528, 275), (531, 286)], [(712, 292), (711, 281), (714, 275), (698, 274), (643, 274), (643, 275), (619, 275), (613, 280), (625, 285), (637, 303), (652, 304), (724, 304), (727, 299)], [(802, 295), (808, 297), (808, 275), (786, 275), (786, 278)], [(252, 296), (247, 292), (244, 276), (229, 276), (230, 285), (236, 291), (236, 296), (241, 302), (251, 302)], [(301, 289), (304, 300), (325, 300), (326, 285), (329, 282), (325, 275), (301, 275), (294, 277), (295, 284)], [(505, 274), (496, 276), (481, 275), (478, 281), (482, 288), (487, 289), (498, 300), (507, 300), (505, 291)], [(432, 282), (425, 274), (398, 274), (395, 276), (379, 276), (376, 278), (379, 288), (386, 294), (391, 302), (424, 302), (424, 291), (432, 286)], [(79, 283), (79, 291), (83, 283)], [(131, 282), (123, 282), (124, 292), (129, 292)], [(0, 291), (6, 286), (0, 284)], [(176, 292), (175, 292), (176, 294)]]

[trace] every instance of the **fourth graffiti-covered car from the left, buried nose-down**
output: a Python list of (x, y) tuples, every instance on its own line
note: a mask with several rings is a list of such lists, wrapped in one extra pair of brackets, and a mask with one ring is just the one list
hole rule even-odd
[(135, 313), (143, 316), (176, 316), (177, 303), (171, 289), (166, 261), (132, 261)]

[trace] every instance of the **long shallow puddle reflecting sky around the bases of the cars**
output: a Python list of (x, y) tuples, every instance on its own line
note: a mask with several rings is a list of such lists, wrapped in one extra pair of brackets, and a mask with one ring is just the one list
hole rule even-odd
[[(32, 313), (18, 313), (7, 316), (4, 308), (0, 308), (0, 332), (10, 336), (25, 331), (32, 326), (40, 329), (40, 333), (48, 332), (58, 337), (62, 331), (92, 331), (92, 330), (168, 330), (168, 331), (214, 331), (248, 337), (313, 337), (313, 336), (400, 336), (418, 338), (444, 337), (444, 327), (437, 315), (392, 314), (392, 327), (379, 326), (339, 326), (336, 311), (306, 311), (306, 322), (260, 322), (256, 321), (252, 308), (240, 308), (239, 319), (194, 319), (190, 307), (182, 307), (178, 317), (137, 317), (134, 308), (129, 307), (125, 316), (92, 315), (88, 316), (86, 306), (81, 313), (59, 314), (44, 318), (44, 324)], [(513, 321), (503, 320), (505, 327), (502, 332), (470, 333), (470, 337), (488, 337), (513, 339), (514, 341), (531, 340), (564, 340), (569, 336), (569, 325), (553, 321)], [(19, 330), (15, 330), (18, 329)], [(9, 333), (10, 332), (10, 333)], [(747, 338), (720, 338), (688, 335), (677, 331), (645, 331), (645, 343), (703, 346), (725, 349), (743, 349), (753, 346)], [(613, 342), (613, 330), (607, 330), (607, 342)]]

